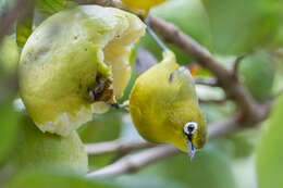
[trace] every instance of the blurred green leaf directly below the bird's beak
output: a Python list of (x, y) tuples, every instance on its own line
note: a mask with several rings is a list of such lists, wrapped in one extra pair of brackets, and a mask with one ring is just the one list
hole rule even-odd
[(231, 159), (213, 143), (198, 152), (193, 162), (184, 153), (152, 165), (144, 173), (148, 171), (192, 188), (236, 187)]

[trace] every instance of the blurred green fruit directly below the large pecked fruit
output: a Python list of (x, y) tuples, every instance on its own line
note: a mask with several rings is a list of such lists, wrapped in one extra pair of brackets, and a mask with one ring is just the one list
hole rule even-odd
[(23, 116), (16, 162), (22, 167), (53, 166), (86, 174), (88, 156), (76, 131), (67, 137), (44, 134), (28, 116)]

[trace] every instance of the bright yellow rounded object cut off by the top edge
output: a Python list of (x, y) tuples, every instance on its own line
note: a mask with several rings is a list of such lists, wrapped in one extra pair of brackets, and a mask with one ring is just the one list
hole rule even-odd
[(122, 0), (124, 4), (132, 9), (144, 9), (148, 11), (150, 8), (158, 5), (167, 0)]

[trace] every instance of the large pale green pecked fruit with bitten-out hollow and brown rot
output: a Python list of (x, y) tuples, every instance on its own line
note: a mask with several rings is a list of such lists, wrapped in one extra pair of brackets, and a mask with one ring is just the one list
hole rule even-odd
[(131, 45), (145, 27), (131, 13), (98, 5), (47, 18), (19, 65), (20, 93), (38, 128), (69, 136), (121, 98), (131, 77)]

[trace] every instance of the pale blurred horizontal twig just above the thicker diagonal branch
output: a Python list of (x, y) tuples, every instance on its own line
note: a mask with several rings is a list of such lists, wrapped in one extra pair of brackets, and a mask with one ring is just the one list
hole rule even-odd
[(149, 142), (130, 142), (125, 140), (114, 140), (101, 143), (88, 143), (85, 146), (86, 152), (90, 155), (99, 155), (110, 152), (131, 152), (133, 150), (140, 150), (155, 147), (156, 145)]

